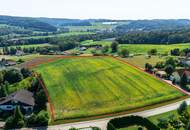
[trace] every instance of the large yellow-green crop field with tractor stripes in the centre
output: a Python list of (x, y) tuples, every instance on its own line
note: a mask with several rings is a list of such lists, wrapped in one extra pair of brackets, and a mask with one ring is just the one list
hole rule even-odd
[(111, 57), (63, 58), (33, 68), (43, 77), (56, 119), (104, 115), (184, 96)]

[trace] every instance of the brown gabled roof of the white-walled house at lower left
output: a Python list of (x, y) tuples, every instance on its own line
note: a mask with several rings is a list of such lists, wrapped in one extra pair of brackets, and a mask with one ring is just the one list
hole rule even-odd
[(34, 106), (34, 97), (33, 93), (29, 92), (28, 90), (20, 90), (17, 92), (14, 92), (7, 97), (0, 98), (0, 105), (7, 103), (9, 101), (14, 101), (14, 102), (21, 102), (26, 105)]

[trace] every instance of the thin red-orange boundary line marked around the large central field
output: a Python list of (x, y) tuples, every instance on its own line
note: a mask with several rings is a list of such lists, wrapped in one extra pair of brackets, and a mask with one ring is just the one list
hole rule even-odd
[[(182, 98), (180, 98), (179, 100), (185, 99), (185, 98), (187, 98), (188, 96), (190, 96), (190, 93), (189, 93), (189, 92), (187, 92), (187, 91), (185, 91), (185, 90), (183, 90), (183, 89), (181, 89), (181, 88), (179, 88), (179, 87), (177, 87), (177, 86), (175, 86), (175, 85), (173, 85), (173, 84), (170, 84), (170, 83), (166, 82), (165, 80), (162, 80), (162, 79), (156, 77), (156, 76), (153, 75), (153, 74), (150, 74), (150, 73), (146, 72), (146, 71), (143, 70), (142, 68), (139, 68), (139, 67), (137, 67), (137, 66), (135, 66), (135, 65), (133, 65), (133, 64), (131, 64), (131, 63), (125, 61), (125, 60), (123, 60), (123, 59), (120, 59), (120, 58), (114, 57), (114, 56), (57, 56), (57, 57), (55, 57), (55, 60), (50, 60), (50, 61), (47, 61), (47, 62), (44, 62), (44, 63), (53, 62), (53, 61), (56, 61), (56, 60), (59, 60), (59, 59), (70, 59), (70, 58), (102, 58), (102, 57), (110, 57), (110, 58), (113, 58), (113, 59), (115, 59), (115, 60), (117, 60), (117, 61), (120, 61), (120, 62), (122, 62), (122, 63), (124, 63), (124, 64), (127, 64), (127, 65), (129, 65), (129, 66), (131, 66), (131, 67), (133, 67), (133, 68), (136, 68), (136, 69), (142, 71), (143, 73), (146, 73), (146, 74), (148, 74), (148, 75), (150, 75), (150, 76), (152, 76), (152, 77), (154, 77), (154, 78), (160, 80), (161, 82), (164, 82), (164, 83), (168, 84), (168, 85), (171, 86), (171, 87), (174, 87), (174, 88), (177, 89), (178, 91), (180, 91), (180, 92), (186, 94), (185, 97), (182, 97)], [(44, 63), (40, 63), (40, 64), (44, 64)], [(33, 67), (35, 67), (35, 66), (33, 66)], [(36, 73), (36, 74), (37, 74), (37, 73)], [(50, 98), (50, 96), (49, 96), (49, 94), (48, 94), (48, 90), (47, 90), (47, 88), (46, 88), (44, 82), (40, 79), (39, 74), (37, 74), (37, 78), (38, 78), (40, 84), (42, 85), (42, 87), (43, 87), (43, 89), (44, 89), (44, 92), (45, 92), (45, 94), (46, 94), (46, 96), (47, 96), (47, 98), (48, 98), (48, 102), (49, 102), (49, 104), (50, 104), (51, 117), (52, 117), (53, 121), (56, 121), (56, 122), (58, 121), (58, 122), (59, 122), (59, 120), (55, 120), (54, 106), (53, 106), (53, 103), (51, 102), (51, 98)], [(174, 100), (175, 100), (175, 99), (174, 99)], [(171, 102), (172, 102), (172, 100), (171, 100)], [(166, 102), (162, 102), (162, 103), (165, 104)], [(161, 104), (162, 104), (162, 103), (161, 103)], [(158, 104), (157, 104), (157, 105), (158, 105)], [(151, 106), (157, 107), (157, 105), (156, 105), (156, 104), (148, 105), (148, 106), (147, 106), (147, 109), (148, 109), (148, 108), (152, 108)], [(153, 108), (154, 108), (154, 107), (153, 107)], [(141, 110), (145, 110), (145, 109), (146, 109), (146, 107), (142, 107), (142, 108), (136, 108), (135, 110), (128, 110), (128, 111), (125, 111), (125, 112), (119, 112), (118, 114), (116, 114), (116, 113), (112, 113), (112, 114), (111, 114), (111, 113), (110, 113), (110, 114), (105, 114), (105, 115), (97, 115), (97, 116), (93, 116), (93, 117), (84, 117), (84, 120), (92, 120), (92, 119), (97, 119), (97, 118), (104, 118), (104, 117), (107, 117), (108, 115), (109, 115), (109, 116), (122, 115), (122, 113), (126, 114), (126, 113), (130, 113), (130, 112), (133, 112), (133, 111), (139, 111), (139, 110), (141, 111)], [(72, 119), (71, 119), (71, 120), (72, 120)], [(71, 120), (65, 120), (65, 123), (69, 123), (69, 122), (73, 122), (73, 121), (74, 121), (74, 122), (82, 121), (83, 118), (81, 118), (81, 119), (79, 119), (79, 120), (77, 120), (77, 119), (73, 119), (73, 121), (71, 121)]]

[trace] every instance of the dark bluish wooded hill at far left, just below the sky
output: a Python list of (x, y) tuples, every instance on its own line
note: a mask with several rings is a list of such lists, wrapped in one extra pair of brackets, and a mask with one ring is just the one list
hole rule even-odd
[(11, 26), (23, 27), (25, 29), (32, 29), (36, 31), (57, 31), (57, 28), (39, 21), (35, 18), (29, 17), (13, 17), (13, 16), (2, 16), (0, 15), (0, 24), (7, 24)]

